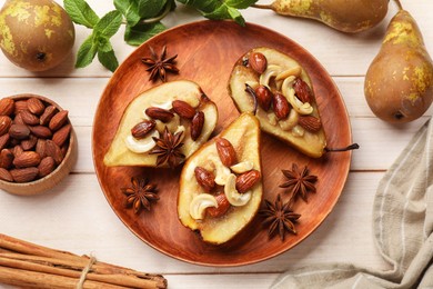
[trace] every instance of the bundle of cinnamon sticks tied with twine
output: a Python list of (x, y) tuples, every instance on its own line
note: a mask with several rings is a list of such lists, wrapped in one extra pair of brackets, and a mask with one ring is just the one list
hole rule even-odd
[(26, 288), (167, 288), (161, 275), (144, 273), (0, 233), (0, 282)]

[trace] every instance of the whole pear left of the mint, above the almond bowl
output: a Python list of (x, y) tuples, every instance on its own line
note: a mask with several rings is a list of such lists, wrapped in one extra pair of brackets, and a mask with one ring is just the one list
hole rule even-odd
[(16, 66), (51, 69), (71, 52), (73, 23), (52, 0), (8, 0), (0, 11), (0, 48)]

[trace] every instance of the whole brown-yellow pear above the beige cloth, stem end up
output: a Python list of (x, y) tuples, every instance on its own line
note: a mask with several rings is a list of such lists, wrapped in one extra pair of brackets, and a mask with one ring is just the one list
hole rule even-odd
[(364, 82), (371, 110), (384, 121), (420, 118), (433, 101), (433, 63), (421, 31), (405, 10), (391, 20)]

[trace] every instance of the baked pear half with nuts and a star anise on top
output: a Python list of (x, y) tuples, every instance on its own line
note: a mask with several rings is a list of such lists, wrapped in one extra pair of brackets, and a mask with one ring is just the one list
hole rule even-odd
[(103, 162), (108, 167), (175, 167), (211, 136), (218, 109), (199, 84), (165, 82), (134, 98), (124, 110)]

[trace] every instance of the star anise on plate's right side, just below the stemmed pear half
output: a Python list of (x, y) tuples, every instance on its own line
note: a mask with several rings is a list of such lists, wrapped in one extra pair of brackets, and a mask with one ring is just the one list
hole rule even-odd
[(314, 183), (318, 177), (310, 175), (309, 168), (305, 166), (302, 170), (296, 163), (292, 165), (292, 170), (282, 170), (286, 181), (280, 185), (280, 188), (289, 188), (292, 190), (292, 200), (301, 197), (306, 202), (306, 193), (315, 192)]

